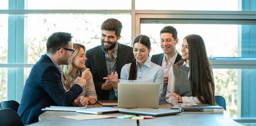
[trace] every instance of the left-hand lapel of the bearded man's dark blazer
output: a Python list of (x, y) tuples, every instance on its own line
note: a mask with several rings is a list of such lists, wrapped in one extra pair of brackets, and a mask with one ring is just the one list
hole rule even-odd
[(98, 57), (99, 64), (101, 66), (101, 69), (103, 70), (103, 74), (105, 77), (108, 75), (107, 65), (106, 65), (106, 59), (105, 59), (105, 53), (102, 50), (102, 47), (99, 46), (98, 53), (96, 55)]

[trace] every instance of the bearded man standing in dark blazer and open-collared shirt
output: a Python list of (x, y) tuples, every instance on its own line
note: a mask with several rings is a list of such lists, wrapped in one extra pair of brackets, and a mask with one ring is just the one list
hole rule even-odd
[(117, 19), (107, 19), (101, 25), (101, 45), (87, 50), (86, 67), (90, 68), (98, 100), (117, 100), (115, 91), (104, 77), (111, 71), (118, 73), (134, 59), (132, 47), (118, 43), (121, 38), (122, 23)]

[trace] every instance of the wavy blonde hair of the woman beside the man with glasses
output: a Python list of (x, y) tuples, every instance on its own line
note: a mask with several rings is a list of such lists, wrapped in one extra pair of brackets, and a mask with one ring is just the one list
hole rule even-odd
[[(69, 58), (69, 64), (68, 65), (60, 65), (61, 66), (61, 80), (62, 80), (62, 85), (64, 87), (65, 90), (69, 90), (72, 85), (71, 85), (71, 81), (72, 81), (72, 77), (71, 77), (71, 70), (73, 69), (72, 67), (72, 60), (74, 59), (74, 57), (78, 54), (78, 51), (80, 50), (80, 48), (83, 48), (84, 52), (86, 51), (86, 47), (84, 47), (81, 44), (78, 43), (74, 43), (73, 44), (73, 48), (74, 48), (74, 53), (73, 56), (71, 56)], [(78, 69), (80, 71), (80, 73), (82, 74), (82, 72), (84, 70), (86, 70), (86, 68), (80, 68)]]

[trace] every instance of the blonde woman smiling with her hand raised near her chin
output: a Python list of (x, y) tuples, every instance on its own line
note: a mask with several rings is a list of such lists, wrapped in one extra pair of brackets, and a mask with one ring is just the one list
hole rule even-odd
[(86, 86), (83, 87), (83, 92), (80, 96), (87, 98), (90, 104), (94, 104), (97, 101), (97, 95), (91, 76), (90, 69), (86, 68), (85, 52), (86, 48), (81, 45), (74, 43), (73, 44), (74, 53), (73, 56), (69, 58), (69, 65), (61, 65), (61, 76), (63, 87), (68, 91), (72, 86), (77, 77), (83, 77), (87, 81)]

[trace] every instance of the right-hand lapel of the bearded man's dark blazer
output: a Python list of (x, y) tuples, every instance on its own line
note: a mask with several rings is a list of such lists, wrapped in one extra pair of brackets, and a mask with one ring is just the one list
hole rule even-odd
[(117, 53), (117, 62), (116, 62), (116, 71), (120, 73), (121, 71), (121, 65), (122, 65), (122, 60), (124, 59), (125, 56), (125, 48), (118, 43), (118, 53)]

